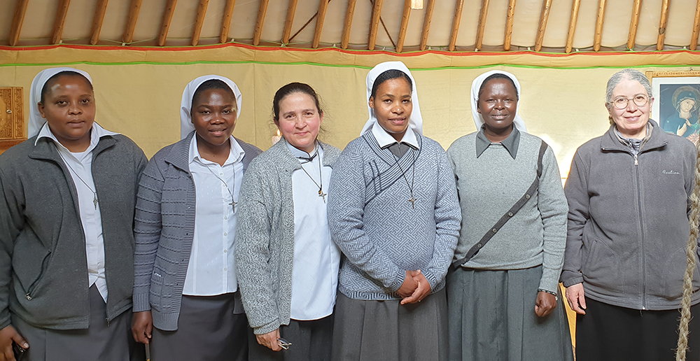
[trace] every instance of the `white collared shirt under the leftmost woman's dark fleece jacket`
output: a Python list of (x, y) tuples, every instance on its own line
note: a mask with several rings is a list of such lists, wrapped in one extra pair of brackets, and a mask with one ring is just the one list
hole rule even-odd
[(85, 255), (87, 256), (87, 287), (94, 284), (99, 294), (107, 302), (107, 282), (104, 276), (104, 239), (102, 237), (102, 215), (99, 212), (99, 198), (94, 204), (96, 194), (94, 180), (92, 179), (92, 150), (97, 147), (99, 139), (103, 136), (116, 135), (118, 133), (100, 127), (92, 123), (90, 131), (90, 146), (84, 152), (72, 153), (64, 147), (51, 132), (48, 123), (41, 127), (36, 142), (41, 138), (50, 138), (54, 141), (60, 157), (71, 174), (71, 180), (78, 192), (78, 212), (80, 222), (83, 224), (85, 234)]

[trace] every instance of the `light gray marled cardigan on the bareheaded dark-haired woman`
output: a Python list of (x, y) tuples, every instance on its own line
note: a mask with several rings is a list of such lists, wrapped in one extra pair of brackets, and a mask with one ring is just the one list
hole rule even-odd
[[(340, 150), (325, 143), (321, 148), (323, 165), (333, 167)], [(255, 158), (243, 177), (236, 265), (243, 306), (255, 334), (289, 325), (294, 259), (292, 173), (300, 168), (282, 139)]]

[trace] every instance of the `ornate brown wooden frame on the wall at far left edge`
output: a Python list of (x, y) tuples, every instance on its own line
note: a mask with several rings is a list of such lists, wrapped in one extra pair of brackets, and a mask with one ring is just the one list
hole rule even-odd
[(25, 140), (22, 87), (0, 87), (0, 153)]

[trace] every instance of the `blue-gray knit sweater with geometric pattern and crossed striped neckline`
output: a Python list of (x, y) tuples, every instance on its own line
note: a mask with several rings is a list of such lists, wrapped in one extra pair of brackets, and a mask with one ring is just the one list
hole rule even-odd
[[(372, 132), (351, 141), (338, 159), (328, 191), (328, 223), (345, 255), (338, 290), (347, 297), (400, 299), (396, 290), (405, 271), (415, 269), (433, 292), (444, 286), (461, 220), (454, 176), (440, 144), (416, 138), (420, 148), (409, 150), (398, 164)], [(408, 201), (409, 184), (415, 208)]]

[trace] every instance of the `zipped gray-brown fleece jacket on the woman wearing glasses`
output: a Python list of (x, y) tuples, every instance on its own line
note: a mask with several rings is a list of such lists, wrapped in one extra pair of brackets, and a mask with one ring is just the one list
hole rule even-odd
[[(561, 281), (586, 297), (629, 309), (680, 307), (693, 143), (653, 120), (634, 156), (610, 127), (576, 150), (566, 181), (568, 236)], [(700, 264), (699, 264), (700, 266)], [(700, 288), (695, 270), (693, 290)], [(694, 292), (692, 303), (700, 302)]]

